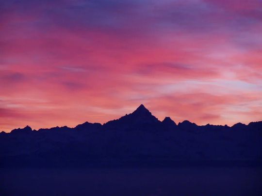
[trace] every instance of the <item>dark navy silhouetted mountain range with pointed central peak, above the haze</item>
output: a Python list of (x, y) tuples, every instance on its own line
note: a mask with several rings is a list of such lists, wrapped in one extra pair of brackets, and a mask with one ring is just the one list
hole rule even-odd
[(159, 121), (143, 105), (103, 125), (0, 133), (0, 166), (262, 166), (262, 121), (197, 126)]

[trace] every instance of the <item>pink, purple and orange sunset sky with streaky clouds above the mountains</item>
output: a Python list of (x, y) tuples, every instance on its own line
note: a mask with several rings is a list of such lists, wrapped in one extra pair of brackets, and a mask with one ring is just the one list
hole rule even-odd
[(161, 121), (261, 121), (262, 0), (0, 0), (0, 131), (140, 104)]

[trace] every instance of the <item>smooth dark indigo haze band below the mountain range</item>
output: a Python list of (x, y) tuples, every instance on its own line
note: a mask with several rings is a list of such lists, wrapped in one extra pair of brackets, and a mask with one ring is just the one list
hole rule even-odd
[(259, 196), (261, 167), (1, 169), (2, 196)]

